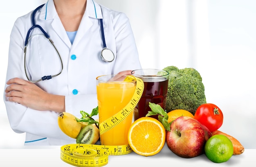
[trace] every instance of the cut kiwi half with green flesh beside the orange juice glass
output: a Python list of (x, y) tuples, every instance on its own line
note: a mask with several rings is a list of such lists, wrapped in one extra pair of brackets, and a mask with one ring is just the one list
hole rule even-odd
[(77, 144), (92, 144), (94, 138), (94, 127), (87, 125), (81, 129), (78, 136), (76, 137)]

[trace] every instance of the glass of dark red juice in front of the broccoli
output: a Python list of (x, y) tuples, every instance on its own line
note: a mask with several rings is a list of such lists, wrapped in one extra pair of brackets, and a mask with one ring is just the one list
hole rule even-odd
[[(131, 73), (144, 82), (143, 94), (134, 109), (134, 120), (146, 116), (148, 111), (151, 111), (149, 102), (165, 109), (169, 73), (159, 69), (136, 69)], [(150, 117), (158, 119), (157, 115)]]

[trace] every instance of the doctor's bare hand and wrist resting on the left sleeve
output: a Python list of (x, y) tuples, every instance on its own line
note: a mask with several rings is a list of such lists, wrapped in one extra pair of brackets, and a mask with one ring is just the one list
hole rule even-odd
[(51, 110), (63, 112), (65, 110), (65, 96), (48, 94), (40, 87), (27, 80), (12, 78), (7, 82), (5, 96), (11, 102), (36, 110)]

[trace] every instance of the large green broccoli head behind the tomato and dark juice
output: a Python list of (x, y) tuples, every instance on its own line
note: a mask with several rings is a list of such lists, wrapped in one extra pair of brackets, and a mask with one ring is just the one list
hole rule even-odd
[(196, 109), (206, 103), (204, 85), (200, 73), (193, 68), (165, 67), (169, 72), (166, 111), (184, 109), (195, 114)]

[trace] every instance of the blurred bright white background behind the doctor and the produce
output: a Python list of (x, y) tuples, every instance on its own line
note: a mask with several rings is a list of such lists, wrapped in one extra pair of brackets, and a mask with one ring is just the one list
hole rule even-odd
[[(47, 0), (0, 5), (0, 90), (3, 94), (9, 36), (14, 21)], [(207, 102), (224, 114), (221, 131), (256, 149), (255, 0), (95, 0), (130, 18), (143, 68), (193, 67)], [(25, 134), (9, 126), (0, 100), (0, 148), (21, 148)]]

